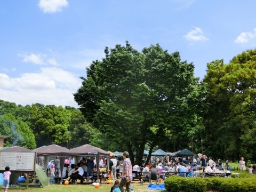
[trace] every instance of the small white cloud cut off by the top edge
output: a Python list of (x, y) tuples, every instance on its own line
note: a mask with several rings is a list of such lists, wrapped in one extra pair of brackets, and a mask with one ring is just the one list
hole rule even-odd
[(60, 12), (62, 7), (68, 6), (67, 0), (40, 0), (38, 6), (45, 13)]

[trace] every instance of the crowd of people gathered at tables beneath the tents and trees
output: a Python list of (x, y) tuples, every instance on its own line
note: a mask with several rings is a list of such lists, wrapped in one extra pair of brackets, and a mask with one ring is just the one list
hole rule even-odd
[[(221, 159), (214, 162), (211, 156), (207, 157), (205, 153), (199, 157), (180, 157), (172, 158), (171, 161), (167, 161), (166, 157), (161, 157), (161, 159), (154, 159), (150, 164), (140, 167), (139, 165), (132, 166), (129, 153), (125, 151), (121, 157), (111, 156), (110, 161), (107, 158), (100, 157), (99, 169), (107, 170), (108, 176), (112, 180), (116, 180), (113, 187), (111, 187), (111, 192), (124, 192), (126, 188), (127, 191), (132, 191), (131, 181), (133, 180), (132, 171), (141, 171), (142, 174), (145, 172), (150, 172), (151, 180), (158, 180), (159, 178), (165, 179), (165, 174), (168, 172), (178, 173), (180, 177), (194, 177), (195, 172), (198, 170), (205, 173), (220, 173), (221, 171), (231, 172), (231, 167), (229, 167), (229, 161), (226, 159), (225, 163), (221, 162)], [(158, 162), (157, 162), (158, 161)], [(60, 160), (56, 157), (53, 162), (49, 162), (50, 175), (51, 177), (60, 177)], [(246, 170), (246, 163), (244, 158), (241, 157), (239, 161), (239, 167), (241, 171)], [(75, 158), (65, 159), (65, 165), (62, 167), (62, 178), (64, 180), (77, 180), (80, 179), (83, 182), (83, 178), (86, 178), (86, 183), (89, 182), (90, 178), (93, 177), (94, 172), (97, 169), (95, 158), (85, 158), (83, 157), (79, 163), (75, 164)], [(250, 166), (250, 173), (253, 173), (255, 167)], [(121, 181), (117, 179), (121, 179)]]

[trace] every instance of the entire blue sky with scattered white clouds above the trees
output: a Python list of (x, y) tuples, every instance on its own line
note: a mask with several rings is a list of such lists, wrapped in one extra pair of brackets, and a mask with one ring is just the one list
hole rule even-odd
[(193, 62), (225, 63), (256, 45), (256, 1), (0, 1), (0, 99), (74, 106), (80, 76), (105, 46), (159, 43)]

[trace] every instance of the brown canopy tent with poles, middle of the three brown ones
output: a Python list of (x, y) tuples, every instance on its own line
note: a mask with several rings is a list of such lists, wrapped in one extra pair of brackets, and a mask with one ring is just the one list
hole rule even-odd
[(69, 156), (64, 153), (67, 153), (68, 151), (69, 151), (69, 149), (55, 145), (55, 144), (39, 147), (39, 148), (33, 150), (33, 152), (36, 152), (36, 156), (44, 156), (45, 173), (47, 173), (47, 162), (49, 162), (49, 157), (51, 157), (51, 156), (59, 157), (59, 159), (60, 159), (60, 174), (61, 174), (60, 183), (61, 184), (62, 184), (62, 170), (64, 167), (65, 157)]

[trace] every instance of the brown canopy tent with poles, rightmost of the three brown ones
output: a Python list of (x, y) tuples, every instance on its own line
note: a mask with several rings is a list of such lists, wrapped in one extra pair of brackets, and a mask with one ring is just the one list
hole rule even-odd
[(99, 167), (100, 167), (100, 156), (107, 157), (108, 167), (109, 167), (109, 153), (98, 147), (86, 144), (63, 153), (65, 156), (96, 156), (96, 165), (97, 165), (97, 180), (99, 181)]

